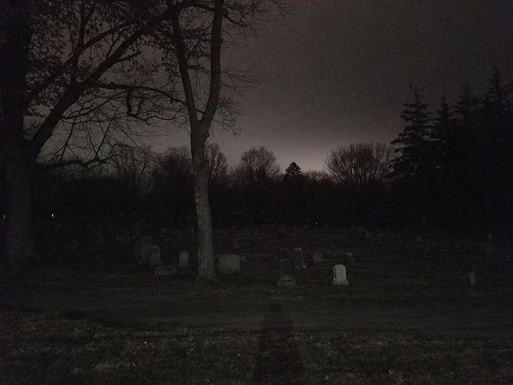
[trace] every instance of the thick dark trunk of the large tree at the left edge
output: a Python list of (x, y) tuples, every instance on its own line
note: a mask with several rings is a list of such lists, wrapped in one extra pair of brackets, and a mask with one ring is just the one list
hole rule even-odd
[(6, 194), (9, 225), (3, 255), (15, 270), (36, 256), (31, 231), (31, 170), (34, 159), (24, 139), (24, 93), (29, 63), (31, 30), (29, 1), (13, 0), (4, 15), (3, 47), (0, 68), (1, 139), (5, 144)]

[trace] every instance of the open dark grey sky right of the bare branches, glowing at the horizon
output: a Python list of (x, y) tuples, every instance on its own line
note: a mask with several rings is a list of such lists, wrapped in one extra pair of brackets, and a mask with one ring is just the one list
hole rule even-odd
[[(464, 84), (486, 89), (493, 66), (513, 80), (513, 2), (303, 1), (222, 59), (261, 79), (243, 93), (241, 133), (214, 133), (229, 165), (263, 145), (282, 170), (292, 161), (323, 169), (338, 146), (394, 139), (408, 84), (425, 86), (435, 110), (444, 94), (454, 103)], [(162, 150), (188, 136), (156, 143)]]

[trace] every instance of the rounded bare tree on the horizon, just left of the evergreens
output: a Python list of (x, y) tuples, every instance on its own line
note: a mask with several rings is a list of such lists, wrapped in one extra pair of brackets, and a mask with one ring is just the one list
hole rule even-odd
[(388, 181), (392, 155), (392, 148), (386, 144), (351, 144), (331, 151), (325, 164), (340, 186), (362, 189)]

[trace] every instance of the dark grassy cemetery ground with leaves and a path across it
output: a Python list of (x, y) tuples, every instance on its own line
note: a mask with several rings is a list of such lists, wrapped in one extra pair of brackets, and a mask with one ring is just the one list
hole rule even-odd
[[(112, 240), (87, 263), (4, 276), (0, 384), (513, 383), (508, 241), (236, 233), (217, 234), (215, 248), (233, 252), (238, 236), (247, 263), (210, 286), (194, 282), (194, 261), (157, 277)], [(189, 232), (153, 238), (165, 262), (194, 251)], [(323, 262), (277, 286), (277, 259), (297, 246)], [(332, 250), (355, 256), (349, 286), (331, 285), (343, 262)]]

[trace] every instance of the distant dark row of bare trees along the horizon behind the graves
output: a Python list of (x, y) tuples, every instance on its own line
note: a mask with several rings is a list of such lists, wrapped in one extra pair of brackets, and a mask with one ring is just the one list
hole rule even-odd
[[(303, 172), (293, 162), (282, 172), (264, 146), (245, 151), (239, 163), (229, 167), (220, 147), (208, 142), (213, 220), (220, 227), (379, 221), (391, 156), (392, 148), (385, 144), (354, 144), (332, 151), (325, 171)], [(162, 153), (151, 146), (125, 146), (96, 167), (40, 169), (34, 211), (39, 218), (129, 213), (130, 220), (157, 218), (162, 227), (194, 227), (193, 173), (187, 146)]]

